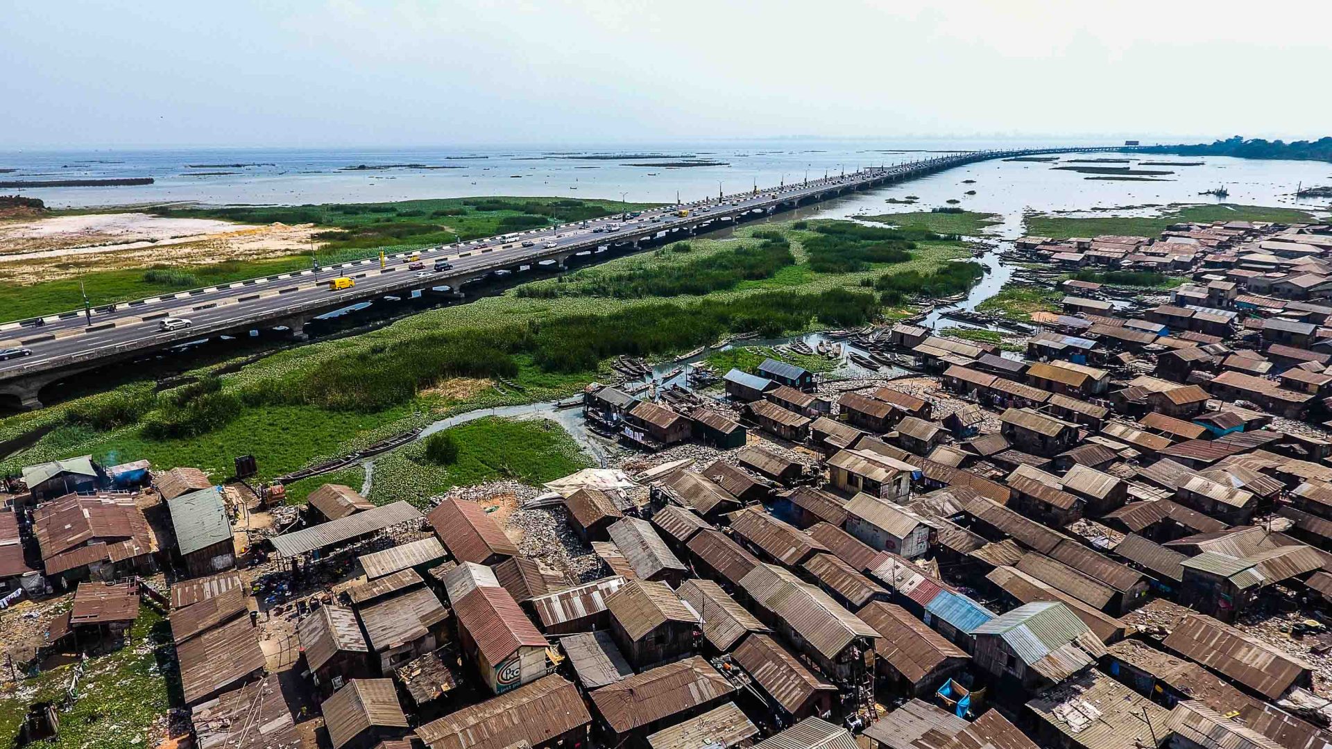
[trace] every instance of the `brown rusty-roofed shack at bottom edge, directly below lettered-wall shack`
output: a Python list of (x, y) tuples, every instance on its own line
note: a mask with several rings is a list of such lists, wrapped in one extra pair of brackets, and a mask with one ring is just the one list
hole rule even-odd
[(417, 728), (430, 749), (577, 748), (591, 716), (578, 688), (550, 674)]

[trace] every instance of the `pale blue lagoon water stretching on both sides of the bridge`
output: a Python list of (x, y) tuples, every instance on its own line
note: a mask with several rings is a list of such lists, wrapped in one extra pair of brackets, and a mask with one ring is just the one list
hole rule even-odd
[[(894, 164), (950, 151), (1051, 145), (1015, 141), (844, 141), (763, 140), (561, 148), (438, 148), (406, 151), (96, 151), (0, 152), (0, 181), (152, 177), (141, 187), (3, 189), (40, 197), (57, 208), (133, 205), (144, 203), (317, 204), (378, 203), (468, 196), (569, 196), (671, 203), (821, 177), (858, 167)], [(1063, 145), (1063, 144), (1060, 144)], [(1096, 145), (1067, 143), (1067, 145)], [(658, 159), (643, 155), (661, 156)], [(1116, 155), (1070, 159), (1116, 157)], [(959, 200), (960, 205), (1004, 216), (1002, 236), (1020, 232), (1024, 211), (1088, 211), (1144, 204), (1200, 203), (1217, 199), (1199, 192), (1225, 185), (1229, 203), (1291, 205), (1299, 184), (1332, 184), (1332, 165), (1312, 161), (1256, 161), (1225, 157), (1123, 155), (1148, 161), (1205, 161), (1169, 169), (1163, 181), (1090, 180), (1090, 175), (1054, 169), (1062, 164), (986, 161), (923, 180), (862, 193), (815, 211), (834, 215), (922, 209)], [(631, 167), (641, 163), (721, 161), (717, 167)], [(236, 167), (236, 164), (245, 164)], [(348, 169), (422, 164), (450, 168)], [(190, 168), (194, 165), (196, 168)], [(1126, 164), (1102, 164), (1126, 165)], [(975, 184), (963, 184), (963, 180)], [(966, 196), (968, 189), (975, 196)], [(886, 204), (888, 197), (919, 196), (912, 208)], [(1327, 201), (1301, 201), (1325, 208)]]

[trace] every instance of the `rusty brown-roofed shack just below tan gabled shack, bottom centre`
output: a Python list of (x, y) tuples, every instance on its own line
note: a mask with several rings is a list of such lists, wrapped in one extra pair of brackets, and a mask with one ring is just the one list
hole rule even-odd
[(621, 746), (731, 700), (735, 688), (699, 656), (661, 665), (589, 694), (601, 742)]

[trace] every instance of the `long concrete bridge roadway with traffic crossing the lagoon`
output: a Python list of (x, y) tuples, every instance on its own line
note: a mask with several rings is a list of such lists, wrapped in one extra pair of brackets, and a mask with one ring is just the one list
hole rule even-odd
[[(807, 184), (661, 207), (623, 221), (606, 217), (397, 253), (388, 256), (382, 268), (378, 257), (374, 257), (318, 271), (306, 269), (104, 305), (92, 309), (91, 321), (84, 311), (73, 311), (7, 323), (0, 325), (0, 348), (25, 347), (32, 353), (0, 361), (0, 394), (16, 396), (24, 406), (36, 408), (40, 406), (37, 390), (64, 376), (209, 336), (285, 327), (294, 336), (304, 337), (301, 328), (310, 319), (385, 295), (441, 287), (457, 292), (465, 284), (496, 271), (515, 271), (551, 261), (563, 267), (569, 257), (594, 253), (599, 248), (629, 244), (637, 247), (639, 241), (654, 239), (674, 240), (699, 229), (719, 228), (723, 219), (734, 221), (749, 215), (773, 213), (794, 208), (802, 201), (814, 203), (975, 161), (1110, 151), (1132, 148), (1039, 148), (938, 156), (894, 167), (860, 169)], [(681, 211), (687, 211), (689, 215), (679, 216)], [(615, 224), (619, 225), (617, 231), (605, 231), (607, 225)], [(530, 247), (523, 247), (527, 243)], [(406, 267), (412, 256), (420, 256), (425, 272)], [(434, 263), (441, 260), (453, 268), (434, 272)], [(356, 285), (332, 291), (329, 280), (338, 276), (352, 277)], [(165, 317), (184, 317), (192, 325), (178, 331), (161, 331), (160, 320)]]

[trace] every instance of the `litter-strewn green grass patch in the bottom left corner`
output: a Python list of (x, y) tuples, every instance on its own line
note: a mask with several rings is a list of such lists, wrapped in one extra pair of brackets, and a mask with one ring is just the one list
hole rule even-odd
[[(17, 614), (8, 614), (17, 616)], [(170, 686), (161, 664), (170, 650), (170, 628), (155, 610), (140, 608), (129, 642), (112, 653), (88, 658), (79, 680), (77, 700), (60, 712), (60, 733), (33, 744), (49, 749), (151, 749), (153, 724), (170, 706)], [(13, 746), (31, 702), (60, 702), (75, 666), (59, 666), (23, 682), (31, 700), (0, 696), (0, 745)]]

